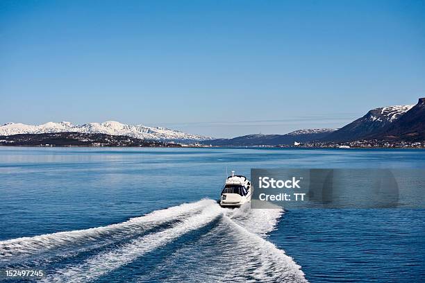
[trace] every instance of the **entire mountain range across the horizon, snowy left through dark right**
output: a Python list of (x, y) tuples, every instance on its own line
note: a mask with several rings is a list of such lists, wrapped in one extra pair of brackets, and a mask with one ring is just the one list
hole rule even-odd
[(416, 105), (394, 105), (369, 110), (363, 117), (339, 129), (303, 129), (285, 135), (244, 135), (231, 139), (213, 139), (167, 128), (133, 126), (116, 121), (82, 125), (49, 122), (36, 126), (6, 123), (0, 126), (0, 136), (56, 132), (127, 136), (151, 141), (201, 142), (213, 146), (277, 146), (295, 142), (343, 142), (362, 139), (425, 141), (425, 98), (419, 98)]

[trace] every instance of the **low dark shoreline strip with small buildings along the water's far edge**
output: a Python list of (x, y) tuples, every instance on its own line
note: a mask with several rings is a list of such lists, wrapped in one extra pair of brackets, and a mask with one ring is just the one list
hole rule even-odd
[(151, 140), (124, 135), (101, 133), (51, 132), (40, 134), (17, 134), (0, 136), (0, 146), (25, 147), (153, 147), (153, 148), (425, 148), (424, 141), (391, 139), (362, 139), (355, 141), (306, 141), (294, 144), (214, 144), (208, 140)]

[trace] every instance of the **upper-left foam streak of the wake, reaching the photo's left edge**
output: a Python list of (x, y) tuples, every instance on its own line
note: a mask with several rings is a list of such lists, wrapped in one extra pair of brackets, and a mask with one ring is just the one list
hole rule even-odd
[(113, 225), (90, 228), (86, 230), (74, 230), (57, 232), (35, 237), (22, 237), (0, 241), (0, 263), (7, 264), (17, 257), (38, 255), (54, 248), (64, 246), (81, 245), (83, 243), (98, 243), (99, 241), (114, 241), (123, 239), (133, 234), (153, 228), (167, 221), (180, 220), (187, 217), (188, 213), (210, 205), (212, 200), (199, 200), (196, 203), (185, 203), (168, 209), (151, 212), (145, 216), (131, 218), (130, 220)]

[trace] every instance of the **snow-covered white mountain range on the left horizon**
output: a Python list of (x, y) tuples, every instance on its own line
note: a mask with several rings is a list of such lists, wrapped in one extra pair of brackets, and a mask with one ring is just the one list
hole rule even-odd
[(159, 141), (203, 141), (211, 139), (211, 137), (192, 135), (167, 128), (147, 127), (143, 125), (126, 125), (116, 121), (106, 121), (103, 123), (85, 123), (83, 125), (74, 125), (69, 122), (48, 122), (42, 125), (6, 123), (0, 126), (0, 135), (43, 134), (49, 132), (85, 132), (89, 134), (100, 133)]

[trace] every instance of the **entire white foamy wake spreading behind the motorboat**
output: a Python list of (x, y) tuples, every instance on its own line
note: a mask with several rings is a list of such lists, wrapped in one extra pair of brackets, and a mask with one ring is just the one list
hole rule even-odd
[(42, 282), (91, 282), (125, 268), (134, 272), (124, 282), (307, 282), (266, 239), (282, 213), (200, 200), (105, 227), (0, 241), (0, 266), (37, 264)]

